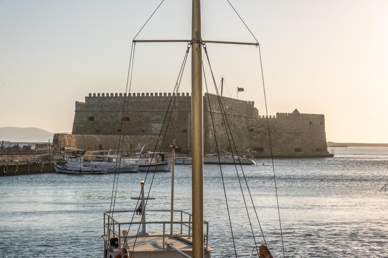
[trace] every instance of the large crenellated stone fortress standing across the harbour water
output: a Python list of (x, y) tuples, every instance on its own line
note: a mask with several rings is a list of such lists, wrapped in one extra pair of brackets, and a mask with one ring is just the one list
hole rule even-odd
[[(76, 101), (72, 134), (55, 134), (55, 151), (64, 148), (81, 150), (118, 150), (121, 134), (123, 152), (138, 151), (143, 145), (145, 150), (154, 150), (159, 132), (162, 129), (171, 95), (175, 93), (98, 93), (89, 94), (85, 102)], [(219, 150), (230, 151), (225, 125), (220, 112), (217, 95), (203, 96), (204, 153), (216, 153), (209, 101), (217, 134)], [(324, 115), (277, 113), (268, 120), (259, 115), (253, 101), (221, 97), (229, 127), (241, 155), (246, 149), (256, 157), (271, 155), (268, 124), (275, 157), (331, 157), (327, 151)], [(123, 104), (126, 108), (123, 115)], [(173, 98), (175, 100), (175, 98)], [(175, 131), (177, 152), (191, 152), (191, 96), (178, 93), (176, 110), (174, 108), (168, 129), (167, 115), (165, 126), (158, 145), (163, 140), (163, 151), (171, 152)], [(172, 103), (171, 103), (172, 106)], [(171, 107), (170, 107), (171, 110)], [(121, 126), (122, 125), (122, 126)], [(158, 147), (156, 150), (160, 150)], [(121, 147), (120, 147), (121, 152)], [(220, 155), (225, 155), (221, 152)]]

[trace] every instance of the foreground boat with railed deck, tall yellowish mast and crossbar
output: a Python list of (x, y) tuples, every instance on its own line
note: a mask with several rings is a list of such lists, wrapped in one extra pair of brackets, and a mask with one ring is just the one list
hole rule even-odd
[[(159, 5), (160, 6), (160, 5)], [(151, 15), (152, 17), (152, 15)], [(144, 27), (144, 26), (143, 26)], [(225, 41), (205, 41), (202, 39), (201, 1), (192, 0), (192, 31), (191, 40), (133, 40), (140, 42), (188, 42), (191, 45), (191, 146), (192, 146), (192, 213), (173, 208), (174, 163), (171, 167), (171, 208), (170, 210), (152, 210), (146, 208), (147, 201), (153, 198), (145, 197), (145, 181), (140, 181), (141, 194), (136, 210), (120, 210), (104, 212), (104, 257), (155, 257), (155, 258), (204, 258), (211, 257), (213, 249), (208, 246), (209, 223), (203, 217), (203, 89), (202, 89), (202, 48), (203, 43), (229, 43), (256, 45), (256, 43), (238, 43)], [(188, 53), (188, 50), (187, 50)], [(175, 160), (175, 139), (171, 145), (173, 160)], [(141, 215), (140, 222), (121, 221), (124, 213)], [(170, 221), (146, 221), (146, 213), (170, 214)], [(180, 219), (174, 220), (178, 213)], [(120, 216), (117, 216), (120, 214)], [(117, 218), (119, 217), (119, 218)], [(132, 217), (133, 218), (133, 217)], [(142, 227), (141, 231), (128, 232), (126, 228)], [(176, 225), (177, 227), (174, 227)], [(147, 227), (159, 231), (148, 232)], [(175, 231), (175, 229), (177, 229)], [(169, 230), (168, 230), (169, 229)], [(204, 229), (206, 232), (204, 232)], [(256, 247), (257, 248), (257, 247)], [(273, 257), (266, 246), (257, 249), (259, 257)]]

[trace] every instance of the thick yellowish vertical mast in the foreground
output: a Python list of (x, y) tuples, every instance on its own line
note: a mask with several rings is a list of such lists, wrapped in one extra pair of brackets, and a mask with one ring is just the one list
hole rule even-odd
[(203, 96), (201, 0), (192, 0), (191, 147), (193, 258), (203, 258)]

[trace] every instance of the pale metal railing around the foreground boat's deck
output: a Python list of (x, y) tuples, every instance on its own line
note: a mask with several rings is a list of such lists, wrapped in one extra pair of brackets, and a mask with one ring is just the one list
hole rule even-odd
[[(135, 210), (121, 210), (121, 211), (114, 211), (113, 213), (133, 213)], [(147, 213), (151, 212), (166, 212), (171, 213), (171, 210), (146, 210)], [(174, 210), (174, 213), (180, 213), (180, 220), (178, 221), (146, 221), (143, 223), (142, 221), (139, 222), (118, 222), (115, 218), (113, 218), (113, 213), (111, 212), (109, 215), (109, 212), (104, 212), (104, 236), (106, 236), (106, 241), (109, 241), (112, 237), (117, 237), (119, 239), (118, 244), (119, 248), (122, 248), (124, 246), (124, 240), (129, 239), (131, 237), (136, 237), (136, 234), (130, 235), (130, 232), (123, 233), (121, 230), (128, 230), (129, 225), (139, 225), (139, 224), (145, 224), (145, 225), (163, 225), (163, 232), (161, 234), (141, 234), (141, 237), (163, 237), (163, 249), (166, 248), (165, 240), (166, 237), (187, 237), (187, 239), (190, 239), (192, 236), (192, 214), (185, 212), (184, 210)], [(147, 216), (149, 217), (149, 215)], [(185, 220), (184, 220), (185, 219)], [(173, 225), (180, 225), (180, 232), (178, 234), (173, 233), (170, 234), (170, 228), (169, 226)], [(203, 224), (206, 225), (206, 234), (204, 234), (204, 241), (206, 248), (208, 248), (208, 235), (209, 235), (209, 222), (204, 220)], [(123, 228), (122, 226), (125, 225)], [(166, 225), (168, 227), (166, 232)], [(136, 228), (136, 227), (135, 227)], [(118, 230), (118, 231), (116, 231)], [(139, 232), (140, 234), (140, 232)]]

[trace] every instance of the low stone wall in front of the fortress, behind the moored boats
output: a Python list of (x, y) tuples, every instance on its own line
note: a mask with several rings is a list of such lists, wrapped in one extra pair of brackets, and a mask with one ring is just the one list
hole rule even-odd
[[(54, 134), (53, 146), (54, 151), (61, 151), (61, 148), (76, 148), (86, 151), (96, 150), (118, 150), (118, 135), (87, 135), (87, 134)], [(145, 144), (144, 150), (154, 150), (157, 136), (121, 136), (120, 152), (123, 147), (123, 152), (131, 150), (140, 150)]]

